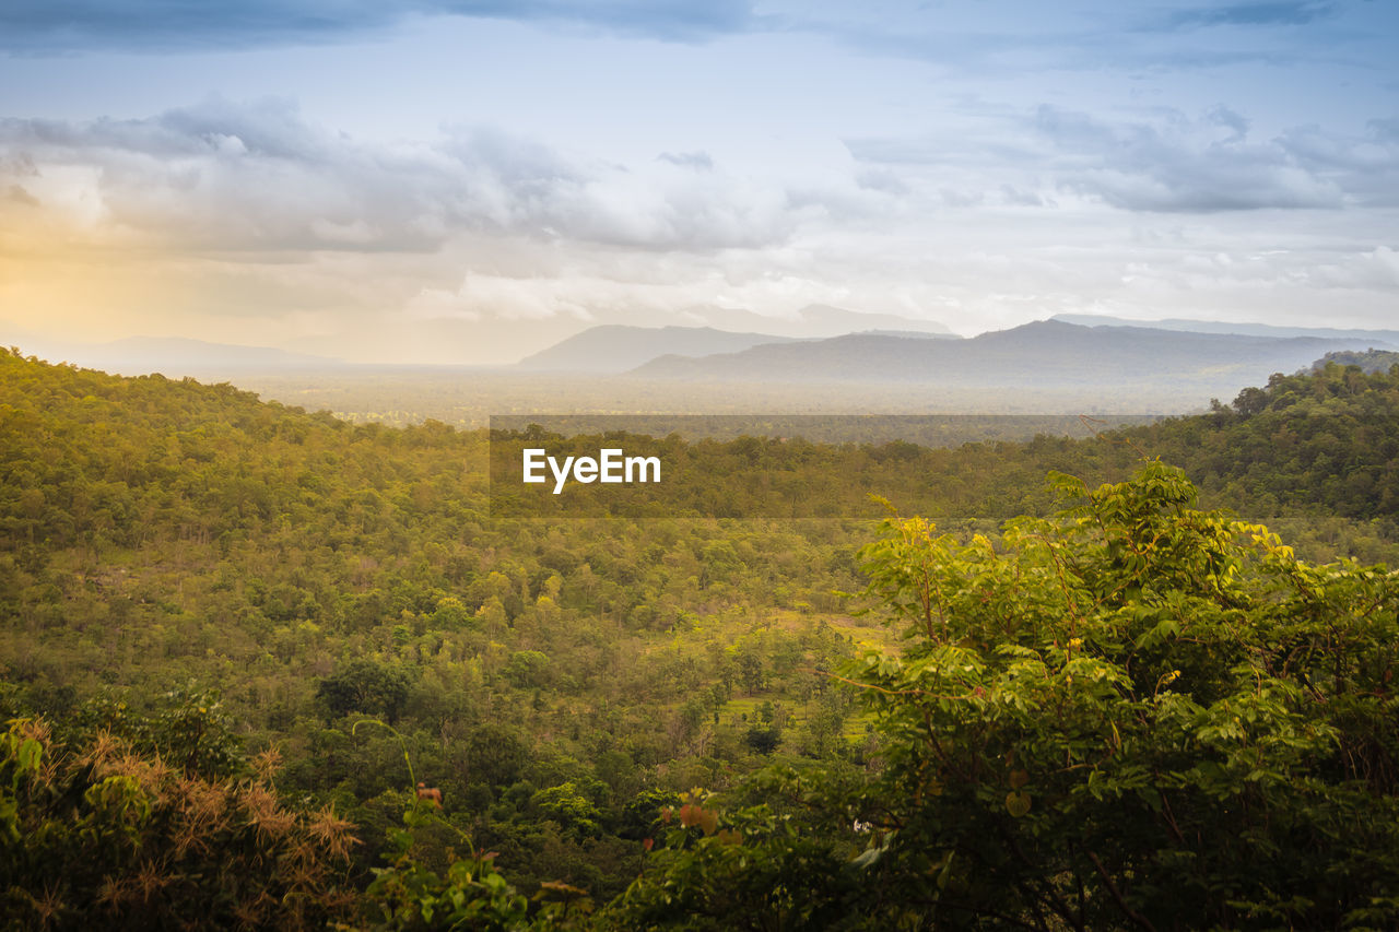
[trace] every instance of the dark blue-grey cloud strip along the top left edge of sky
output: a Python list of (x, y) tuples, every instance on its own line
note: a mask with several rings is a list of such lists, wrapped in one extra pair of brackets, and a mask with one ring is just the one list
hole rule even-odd
[(746, 0), (7, 0), (0, 49), (168, 52), (343, 42), (414, 15), (537, 21), (697, 42), (746, 29)]

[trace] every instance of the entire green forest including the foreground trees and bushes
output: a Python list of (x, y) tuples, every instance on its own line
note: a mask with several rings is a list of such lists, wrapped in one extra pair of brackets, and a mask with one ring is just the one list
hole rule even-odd
[(10, 928), (1399, 925), (1395, 361), (648, 438), (761, 518), (502, 515), (491, 439), (0, 351)]

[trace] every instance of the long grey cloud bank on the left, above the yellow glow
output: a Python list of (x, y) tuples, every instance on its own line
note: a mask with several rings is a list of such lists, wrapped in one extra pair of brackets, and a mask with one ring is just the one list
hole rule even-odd
[(490, 127), (361, 143), (288, 101), (218, 98), (147, 119), (0, 119), (0, 190), (10, 185), (90, 238), (204, 250), (432, 252), (466, 232), (755, 248), (790, 236), (811, 199), (712, 169), (630, 169)]

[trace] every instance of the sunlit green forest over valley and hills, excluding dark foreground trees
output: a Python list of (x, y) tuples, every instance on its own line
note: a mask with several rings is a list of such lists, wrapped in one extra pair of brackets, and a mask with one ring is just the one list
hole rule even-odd
[[(764, 835), (739, 827), (750, 817), (741, 814), (740, 803), (755, 800), (762, 785), (746, 774), (772, 761), (820, 774), (817, 784), (853, 786), (849, 792), (872, 774), (897, 777), (888, 751), (901, 735), (888, 730), (897, 715), (863, 701), (869, 690), (842, 687), (832, 676), (844, 669), (846, 679), (883, 683), (872, 679), (860, 658), (870, 649), (897, 655), (890, 631), (874, 624), (873, 616), (851, 614), (853, 606), (834, 595), (860, 589), (870, 579), (859, 571), (856, 556), (876, 535), (867, 522), (492, 522), (484, 508), (480, 432), (432, 423), (404, 430), (348, 425), (260, 403), (227, 385), (120, 379), (49, 367), (17, 353), (0, 355), (0, 609), (6, 619), (0, 656), (7, 682), (0, 698), (7, 718), (29, 722), (11, 729), (0, 779), (11, 785), (17, 820), (50, 819), (71, 828), (70, 819), (101, 814), (91, 800), (71, 809), (52, 803), (34, 809), (32, 779), (42, 767), (35, 764), (34, 747), (48, 749), (41, 760), (56, 768), (45, 779), (62, 782), (62, 777), (69, 795), (87, 800), (84, 781), (102, 772), (90, 764), (104, 732), (123, 742), (122, 753), (112, 751), (118, 760), (203, 761), (203, 750), (190, 757), (187, 735), (186, 744), (161, 737), (169, 722), (187, 721), (194, 747), (210, 742), (214, 763), (206, 771), (186, 765), (180, 779), (274, 777), (278, 799), (305, 802), (292, 806), (301, 813), (294, 817), (298, 824), (325, 824), (315, 820), (333, 817), (355, 826), (362, 844), (316, 855), (327, 873), (318, 875), (316, 893), (308, 887), (305, 901), (320, 903), (315, 910), (325, 912), (308, 905), (312, 911), (305, 915), (354, 915), (369, 922), (382, 919), (385, 910), (397, 915), (417, 908), (421, 921), (420, 907), (431, 897), (476, 903), (488, 896), (491, 908), (506, 917), (501, 922), (555, 922), (571, 898), (586, 893), (596, 904), (613, 900), (648, 858), (676, 861), (677, 851), (713, 848), (723, 844), (712, 841), (720, 831), (762, 837), (774, 858), (789, 856), (781, 831)], [(806, 444), (800, 458), (792, 456), (792, 444), (748, 441), (744, 455), (788, 458), (783, 467), (793, 472), (793, 481), (810, 479), (813, 487), (830, 484), (832, 476), (848, 477), (852, 487), (867, 484), (905, 514), (923, 514), (954, 530), (961, 547), (970, 535), (992, 535), (1016, 515), (1049, 515), (1056, 505), (1055, 493), (1044, 484), (1048, 472), (1081, 476), (1095, 488), (1128, 479), (1147, 453), (1184, 465), (1206, 505), (1228, 504), (1249, 519), (1267, 519), (1315, 558), (1353, 553), (1389, 560), (1399, 501), (1396, 402), (1399, 371), (1364, 374), (1328, 365), (1314, 374), (1274, 376), (1267, 386), (1245, 390), (1234, 404), (1219, 404), (1205, 416), (1093, 441), (1038, 438), (939, 451), (908, 444)], [(943, 546), (947, 553), (939, 558), (972, 558), (951, 543)], [(1000, 547), (1010, 553), (1006, 540)], [(1248, 563), (1237, 554), (1228, 560)], [(1336, 577), (1336, 592), (1347, 585), (1364, 589), (1343, 567), (1326, 572)], [(1377, 605), (1391, 605), (1392, 620), (1392, 603), (1384, 602), (1388, 584), (1375, 579), (1388, 577), (1365, 585), (1379, 586)], [(1281, 598), (1276, 595), (1281, 582), (1267, 585), (1274, 586), (1270, 598)], [(1039, 588), (1046, 591), (1037, 598), (1056, 598), (1048, 582)], [(872, 593), (876, 602), (879, 596), (880, 591)], [(1031, 623), (1035, 617), (1041, 621)], [(1042, 656), (1048, 655), (1041, 628), (1048, 623), (1048, 616), (1025, 619), (1027, 631), (1041, 631), (1025, 635), (1031, 638), (1027, 647)], [(1163, 644), (1175, 649), (1182, 640), (1172, 634)], [(1107, 641), (1094, 649), (1108, 668), (1125, 663)], [(916, 649), (905, 647), (902, 662), (914, 655)], [(990, 670), (986, 676), (1000, 676), (997, 665), (1004, 658), (992, 651), (981, 662)], [(1052, 668), (1058, 661), (1045, 662)], [(1364, 676), (1382, 676), (1388, 669), (1375, 658), (1365, 663), (1371, 666), (1361, 665)], [(1185, 668), (1171, 669), (1177, 668), (1184, 683)], [(1219, 682), (1212, 689), (1223, 696), (1233, 673), (1212, 670)], [(1182, 694), (1182, 689), (1195, 686), (1170, 693)], [(1336, 689), (1346, 693), (1351, 686)], [(1214, 697), (1205, 698), (1209, 702), (1191, 701), (1212, 708)], [(1364, 705), (1368, 700), (1357, 701), (1364, 715), (1356, 722), (1375, 721), (1367, 718), (1374, 711)], [(1121, 736), (1112, 709), (1109, 704), (1100, 718), (1114, 722)], [(1288, 715), (1297, 711), (1287, 709)], [(1297, 714), (1311, 722), (1337, 709), (1333, 704)], [(35, 715), (48, 725), (36, 723)], [(1305, 737), (1312, 742), (1302, 756), (1307, 767), (1335, 753), (1326, 743), (1332, 740), (1328, 729), (1340, 725), (1326, 715), (1312, 722)], [(393, 723), (396, 730), (355, 729), (365, 716)], [(1091, 737), (1084, 740), (1091, 743)], [(1384, 761), (1391, 739), (1381, 729), (1372, 740), (1375, 760)], [(271, 750), (281, 758), (276, 767), (259, 757)], [(88, 758), (90, 764), (81, 763)], [(264, 761), (262, 777), (255, 760)], [(404, 789), (411, 784), (407, 765), (441, 789), (445, 806), (439, 813), (411, 805)], [(1322, 777), (1342, 796), (1357, 779), (1344, 768)], [(169, 793), (176, 789), (186, 792), (159, 781), (143, 786), (137, 789), (147, 793), (145, 802), (130, 796), (130, 805), (152, 812), (173, 805), (169, 800), (179, 796)], [(725, 816), (732, 826), (720, 830), (715, 821), (715, 831), (704, 835), (705, 824), (695, 823), (686, 831), (694, 835), (698, 828), (704, 844), (684, 838), (669, 844), (669, 835), (653, 824), (662, 806), (684, 812), (690, 805), (687, 819), (695, 807), (718, 812), (701, 796), (683, 802), (679, 793), (693, 786), (734, 800), (736, 807), (726, 809), (732, 814)], [(1364, 792), (1379, 800), (1392, 796), (1382, 786)], [(1038, 796), (1031, 789), (1025, 795), (1031, 802), (1025, 817), (1038, 817)], [(779, 796), (774, 791), (769, 805)], [(817, 802), (830, 809), (830, 799), (823, 799)], [(1294, 802), (1272, 799), (1269, 805), (1291, 812)], [(399, 826), (393, 831), (404, 827), (404, 812), (414, 823), (407, 827), (407, 847), (402, 834), (390, 833), (393, 826)], [(803, 824), (789, 816), (782, 824)], [(802, 840), (816, 847), (823, 863), (846, 863), (842, 852), (866, 856), (851, 848), (867, 844), (865, 835), (834, 831), (830, 819), (821, 821), (818, 806), (807, 817), (814, 821)], [(1378, 831), (1375, 838), (1382, 840), (1388, 828)], [(665, 851), (644, 856), (646, 838)], [(732, 841), (733, 834), (722, 838)], [(880, 838), (883, 844), (887, 834)], [(169, 838), (137, 841), (145, 851), (168, 855)], [(274, 842), (270, 835), (262, 841)], [(523, 907), (498, 886), (504, 880), (485, 883), (485, 877), (499, 879), (485, 861), (459, 859), (464, 866), (449, 869), (449, 851), (499, 852), (501, 869), (516, 889), (540, 891), (558, 908)], [(1111, 868), (1109, 854), (1122, 854), (1088, 851), (1105, 868)], [(69, 856), (62, 852), (59, 847), (46, 856)], [(1101, 879), (1101, 873), (1093, 859), (1076, 856), (1073, 863), (1051, 866), (1098, 884), (1093, 876)], [(383, 863), (395, 863), (396, 872), (385, 875), (376, 893), (365, 894), (369, 869)], [(663, 869), (679, 872), (683, 884), (686, 870), (700, 869), (687, 863), (679, 858)], [(888, 868), (888, 882), (895, 883), (908, 865), (890, 863), (895, 866)], [(1206, 886), (1231, 870), (1217, 863), (1198, 866), (1206, 873), (1191, 875), (1196, 876), (1192, 883)], [(227, 868), (210, 868), (207, 875), (222, 876)], [(960, 869), (949, 869), (949, 882)], [(1290, 868), (1276, 869), (1286, 873)], [(1112, 869), (1108, 875), (1114, 876)], [(720, 883), (718, 875), (694, 876), (711, 884), (697, 889)], [(753, 875), (754, 883), (758, 877)], [(492, 891), (483, 893), (483, 883)], [(1038, 880), (1028, 883), (1038, 889)], [(1156, 908), (1153, 901), (1132, 898), (1149, 891), (1114, 883), (1132, 910)], [(1328, 887), (1330, 898), (1316, 908), (1330, 910), (1325, 915), (1332, 924), (1370, 922), (1367, 908), (1388, 915), (1384, 904), (1361, 903), (1371, 889), (1357, 875), (1346, 880), (1350, 886)], [(659, 914), (648, 912), (656, 908), (648, 890), (634, 887), (595, 915), (623, 925), (639, 922), (639, 915), (655, 919)], [(1305, 904), (1279, 904), (1259, 890), (1240, 893), (1251, 904), (1247, 908), (1230, 907), (1233, 912), (1214, 912), (1209, 921), (1247, 925), (1266, 915), (1290, 921), (1322, 915), (1308, 912)], [(979, 903), (972, 893), (965, 893), (971, 897), (965, 903)], [(17, 903), (39, 903), (46, 893), (24, 887), (22, 896), (11, 896)], [(64, 914), (71, 921), (98, 908), (91, 905), (95, 900), (74, 896), (74, 903), (90, 905), (71, 907), (77, 912)], [(285, 890), (278, 896), (285, 897)], [(1027, 917), (1035, 910), (1055, 911), (1045, 905), (1052, 903), (1046, 896), (1021, 890), (1006, 904), (1014, 903), (1017, 915), (1034, 922)], [(1111, 911), (1112, 900), (1112, 884), (1095, 889), (1094, 922), (1129, 924), (1122, 918), (1129, 914), (1115, 903), (1119, 912)], [(120, 903), (134, 908), (127, 898)], [(581, 905), (574, 904), (568, 921), (578, 919)], [(848, 915), (831, 908), (830, 915)], [(940, 915), (939, 922), (954, 922)], [(1059, 919), (1069, 922), (1062, 912)]]

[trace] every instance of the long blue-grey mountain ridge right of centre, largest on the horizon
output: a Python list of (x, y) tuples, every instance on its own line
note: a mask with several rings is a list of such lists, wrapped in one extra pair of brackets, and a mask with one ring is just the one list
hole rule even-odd
[(646, 378), (768, 382), (922, 382), (949, 386), (1143, 385), (1192, 381), (1233, 392), (1293, 372), (1368, 339), (1259, 337), (1149, 327), (1086, 327), (1041, 320), (970, 340), (856, 333), (765, 344), (704, 358), (666, 357), (632, 371)]

